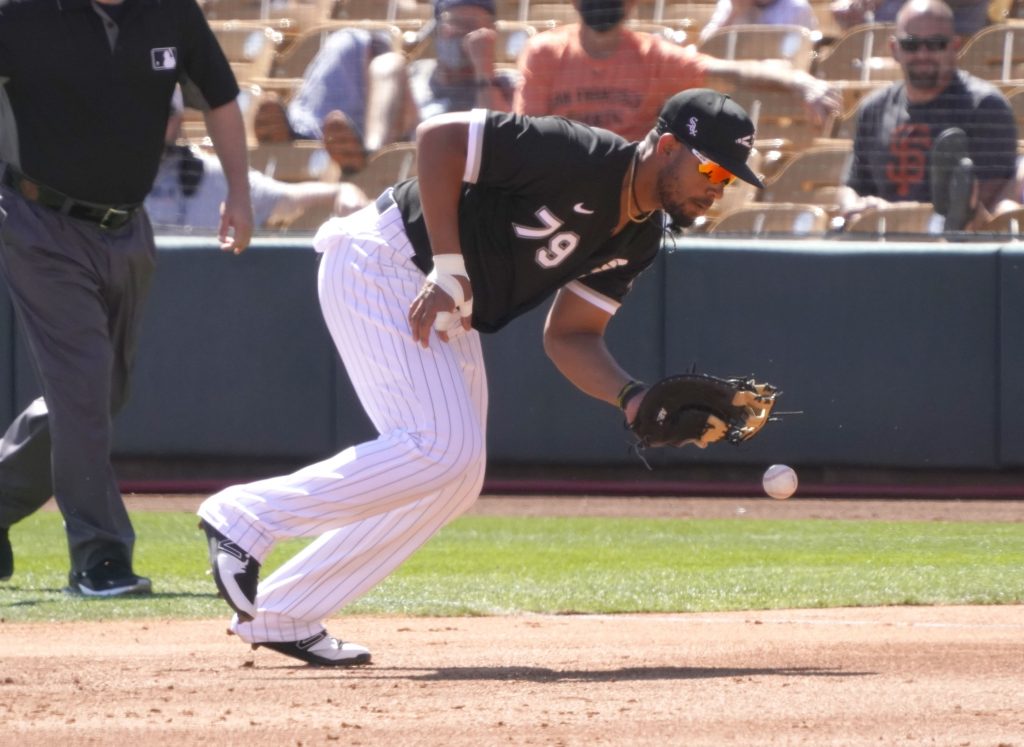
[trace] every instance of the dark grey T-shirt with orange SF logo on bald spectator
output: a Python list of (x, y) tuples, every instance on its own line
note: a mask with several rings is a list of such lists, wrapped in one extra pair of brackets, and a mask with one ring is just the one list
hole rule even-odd
[(927, 103), (908, 101), (902, 81), (864, 99), (846, 183), (858, 195), (889, 202), (931, 202), (932, 144), (949, 127), (967, 133), (978, 178), (1013, 178), (1017, 163), (1013, 110), (991, 83), (957, 71), (949, 86)]

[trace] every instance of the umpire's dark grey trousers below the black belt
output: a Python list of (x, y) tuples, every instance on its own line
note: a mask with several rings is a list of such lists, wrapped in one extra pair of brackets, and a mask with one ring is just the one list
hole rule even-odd
[[(0, 165), (2, 168), (2, 165)], [(0, 272), (43, 396), (0, 441), (0, 527), (52, 495), (73, 573), (131, 564), (135, 533), (111, 465), (156, 260), (144, 211), (115, 231), (0, 188)]]

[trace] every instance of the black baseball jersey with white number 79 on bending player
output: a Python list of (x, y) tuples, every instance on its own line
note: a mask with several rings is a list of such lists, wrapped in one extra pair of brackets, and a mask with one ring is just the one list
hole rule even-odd
[[(623, 179), (636, 153), (607, 130), (561, 117), (473, 110), (459, 233), (473, 286), (473, 327), (494, 332), (562, 286), (614, 312), (657, 255), (660, 213), (616, 236)], [(433, 266), (420, 181), (394, 198), (424, 272)]]

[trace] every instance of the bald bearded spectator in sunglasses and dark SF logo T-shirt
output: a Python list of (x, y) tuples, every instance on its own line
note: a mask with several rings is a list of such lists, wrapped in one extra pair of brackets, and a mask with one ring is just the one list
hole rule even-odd
[[(1017, 125), (995, 86), (957, 69), (959, 46), (952, 11), (942, 0), (909, 0), (900, 10), (890, 47), (903, 80), (861, 103), (848, 189), (841, 195), (847, 217), (891, 202), (931, 202), (948, 205), (949, 213), (941, 211), (945, 227), (961, 230), (980, 224), (994, 207), (1014, 176)], [(970, 158), (974, 179), (966, 185), (933, 183), (933, 147), (951, 128), (966, 134), (965, 153), (952, 159)], [(948, 177), (950, 170), (939, 173)], [(953, 213), (963, 217), (951, 220)]]

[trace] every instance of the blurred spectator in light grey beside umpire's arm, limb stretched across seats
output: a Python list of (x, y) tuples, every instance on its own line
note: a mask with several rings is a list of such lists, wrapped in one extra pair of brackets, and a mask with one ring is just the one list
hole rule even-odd
[[(156, 226), (216, 230), (220, 205), (227, 195), (227, 177), (216, 156), (177, 144), (183, 108), (176, 92), (167, 122), (166, 147), (145, 211)], [(326, 181), (287, 182), (249, 170), (256, 227), (287, 225), (306, 210), (319, 208), (333, 215), (347, 215), (368, 204), (354, 184)]]

